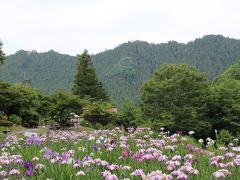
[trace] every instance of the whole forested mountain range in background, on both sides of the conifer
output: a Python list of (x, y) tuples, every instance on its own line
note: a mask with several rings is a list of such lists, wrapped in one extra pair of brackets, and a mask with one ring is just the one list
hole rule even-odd
[[(81, 53), (81, 52), (79, 52)], [(240, 40), (207, 35), (186, 44), (176, 41), (151, 44), (127, 42), (92, 56), (97, 75), (118, 104), (126, 97), (138, 101), (140, 86), (164, 63), (186, 63), (206, 72), (209, 79), (240, 59)], [(7, 57), (0, 78), (9, 82), (31, 79), (43, 92), (70, 90), (76, 72), (76, 57), (54, 51), (20, 50)]]

